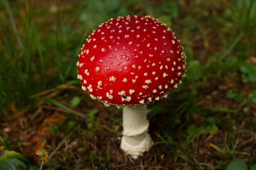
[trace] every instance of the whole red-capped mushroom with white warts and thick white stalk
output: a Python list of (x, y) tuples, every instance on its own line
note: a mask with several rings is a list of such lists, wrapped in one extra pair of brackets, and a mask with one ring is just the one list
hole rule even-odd
[(150, 16), (111, 18), (81, 48), (78, 79), (92, 99), (123, 108), (121, 149), (137, 159), (153, 141), (146, 104), (185, 77), (186, 56), (166, 24)]

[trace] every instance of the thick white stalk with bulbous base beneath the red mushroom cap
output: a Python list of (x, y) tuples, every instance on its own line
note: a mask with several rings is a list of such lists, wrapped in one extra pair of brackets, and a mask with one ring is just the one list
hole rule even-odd
[(148, 134), (147, 105), (123, 108), (121, 149), (133, 159), (148, 151), (153, 141)]

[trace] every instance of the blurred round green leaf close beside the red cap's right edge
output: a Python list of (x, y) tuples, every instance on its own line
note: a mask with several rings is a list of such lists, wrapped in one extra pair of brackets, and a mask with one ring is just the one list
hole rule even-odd
[(198, 60), (190, 61), (186, 70), (187, 79), (190, 81), (198, 80), (202, 76), (202, 66)]

